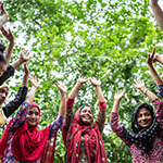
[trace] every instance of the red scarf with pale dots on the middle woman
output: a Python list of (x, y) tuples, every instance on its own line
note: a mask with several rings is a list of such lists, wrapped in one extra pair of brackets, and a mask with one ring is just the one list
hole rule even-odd
[(62, 128), (63, 140), (67, 151), (66, 163), (78, 163), (82, 136), (84, 136), (89, 163), (106, 163), (106, 155), (98, 124), (95, 123), (92, 127), (85, 125), (79, 117), (80, 109), (73, 116), (67, 136), (65, 135), (65, 128)]

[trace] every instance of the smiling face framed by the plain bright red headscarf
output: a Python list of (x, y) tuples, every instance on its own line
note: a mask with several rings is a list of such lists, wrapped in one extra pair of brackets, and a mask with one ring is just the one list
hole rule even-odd
[(36, 126), (39, 122), (39, 110), (36, 106), (33, 106), (27, 116), (26, 116), (26, 122), (29, 126)]

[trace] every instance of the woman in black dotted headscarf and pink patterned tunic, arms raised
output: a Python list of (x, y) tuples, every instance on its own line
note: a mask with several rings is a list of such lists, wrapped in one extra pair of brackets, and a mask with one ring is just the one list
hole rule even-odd
[(156, 109), (156, 115), (150, 104), (142, 103), (136, 108), (131, 116), (131, 129), (128, 131), (118, 124), (118, 105), (125, 91), (117, 91), (110, 125), (116, 136), (129, 148), (134, 163), (163, 162), (163, 102), (145, 87), (145, 83), (137, 79), (135, 87), (143, 92)]

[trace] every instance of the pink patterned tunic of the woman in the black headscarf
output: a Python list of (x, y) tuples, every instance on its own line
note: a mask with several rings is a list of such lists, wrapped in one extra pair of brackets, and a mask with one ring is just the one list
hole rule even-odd
[(163, 102), (161, 99), (155, 99), (152, 104), (156, 110), (156, 117), (159, 122), (159, 131), (152, 141), (152, 149), (141, 155), (141, 150), (127, 138), (126, 131), (118, 124), (118, 113), (111, 113), (110, 125), (116, 136), (120, 137), (129, 148), (133, 163), (159, 163), (163, 162)]

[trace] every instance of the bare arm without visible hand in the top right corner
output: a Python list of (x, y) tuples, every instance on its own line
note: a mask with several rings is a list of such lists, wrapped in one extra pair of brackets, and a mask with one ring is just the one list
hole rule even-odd
[(158, 4), (158, 0), (151, 0), (150, 7), (153, 11), (153, 15), (156, 20), (158, 25), (163, 30), (163, 11), (161, 10), (160, 5)]

